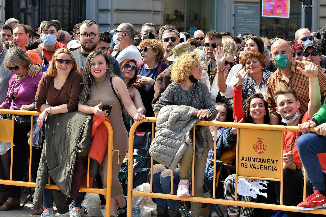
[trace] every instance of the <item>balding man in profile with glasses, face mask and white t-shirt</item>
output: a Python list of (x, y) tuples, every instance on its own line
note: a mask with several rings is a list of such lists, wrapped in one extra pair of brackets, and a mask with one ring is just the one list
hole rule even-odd
[(119, 64), (126, 59), (134, 59), (137, 64), (142, 62), (141, 53), (134, 44), (135, 34), (134, 26), (130, 23), (121, 23), (115, 30), (112, 38), (114, 44), (121, 48), (115, 56)]

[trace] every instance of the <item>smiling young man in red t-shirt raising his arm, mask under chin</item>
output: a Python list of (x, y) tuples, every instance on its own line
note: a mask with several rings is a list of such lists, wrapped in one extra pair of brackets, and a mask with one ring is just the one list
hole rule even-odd
[[(309, 102), (308, 110), (304, 114), (299, 111), (300, 99), (297, 99), (296, 92), (289, 87), (282, 87), (275, 91), (274, 100), (276, 103), (276, 112), (281, 115), (282, 122), (288, 126), (298, 126), (307, 122), (321, 107), (320, 88), (318, 81), (318, 66), (305, 65), (305, 68), (297, 68), (300, 73), (309, 78)], [(296, 206), (301, 202), (303, 196), (303, 173), (301, 160), (297, 148), (297, 140), (302, 136), (300, 132), (285, 131), (283, 147), (283, 204)], [(320, 156), (324, 159), (326, 155)], [(326, 162), (320, 161), (323, 170), (326, 170)], [(280, 182), (274, 182), (275, 191), (280, 199)], [(312, 193), (311, 184), (307, 184), (307, 192)], [(287, 215), (298, 216), (296, 212), (287, 212)]]

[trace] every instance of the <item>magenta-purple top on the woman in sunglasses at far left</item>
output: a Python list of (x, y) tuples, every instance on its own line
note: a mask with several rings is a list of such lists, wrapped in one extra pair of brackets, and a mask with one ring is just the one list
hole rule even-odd
[(14, 92), (16, 92), (19, 88), (19, 86), (22, 84), (18, 91), (17, 99), (15, 99), (15, 105), (13, 105), (12, 100), (10, 99), (10, 107), (8, 105), (8, 97), (11, 92), (12, 86), (14, 85), (14, 82), (16, 80), (17, 75), (12, 75), (9, 80), (9, 87), (7, 91), (7, 98), (6, 101), (3, 102), (1, 105), (5, 109), (13, 109), (13, 110), (19, 110), (22, 105), (29, 105), (32, 104), (35, 100), (35, 94), (37, 91), (38, 83), (41, 80), (43, 73), (39, 72), (37, 76), (34, 78), (31, 78), (29, 75), (26, 76), (24, 79), (24, 82), (22, 82), (23, 79), (17, 80), (15, 84)]

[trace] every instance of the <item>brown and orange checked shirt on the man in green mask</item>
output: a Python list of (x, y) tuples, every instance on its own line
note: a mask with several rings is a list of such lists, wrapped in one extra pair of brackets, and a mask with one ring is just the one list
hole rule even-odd
[[(281, 87), (293, 88), (300, 101), (299, 111), (304, 114), (308, 111), (309, 102), (309, 78), (298, 71), (297, 66), (304, 69), (306, 64), (313, 64), (306, 61), (292, 60), (291, 72), (289, 76), (289, 83), (282, 79), (281, 69), (277, 68), (267, 81), (266, 100), (268, 102), (269, 112), (277, 115), (275, 111), (276, 103), (274, 101), (274, 92)], [(321, 104), (323, 104), (326, 97), (326, 76), (318, 67), (318, 80), (320, 86)]]

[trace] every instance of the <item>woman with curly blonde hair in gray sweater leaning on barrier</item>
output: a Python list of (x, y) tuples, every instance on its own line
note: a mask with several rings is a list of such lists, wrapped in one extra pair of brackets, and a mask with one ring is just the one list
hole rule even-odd
[[(210, 93), (207, 86), (199, 81), (202, 73), (201, 62), (195, 53), (183, 54), (178, 57), (173, 64), (171, 71), (171, 80), (173, 81), (162, 93), (159, 101), (154, 106), (155, 116), (159, 114), (160, 109), (166, 105), (187, 105), (198, 109), (197, 117), (202, 120), (214, 120), (217, 111), (210, 99)], [(197, 146), (197, 145), (196, 145)], [(194, 196), (202, 197), (204, 171), (208, 155), (208, 147), (205, 148), (202, 159), (195, 157), (195, 183)], [(189, 175), (191, 161), (193, 156), (193, 147), (189, 145), (182, 155), (179, 162), (180, 183), (178, 186), (178, 197), (189, 197)], [(191, 212), (193, 216), (199, 216), (201, 203), (191, 202)]]

